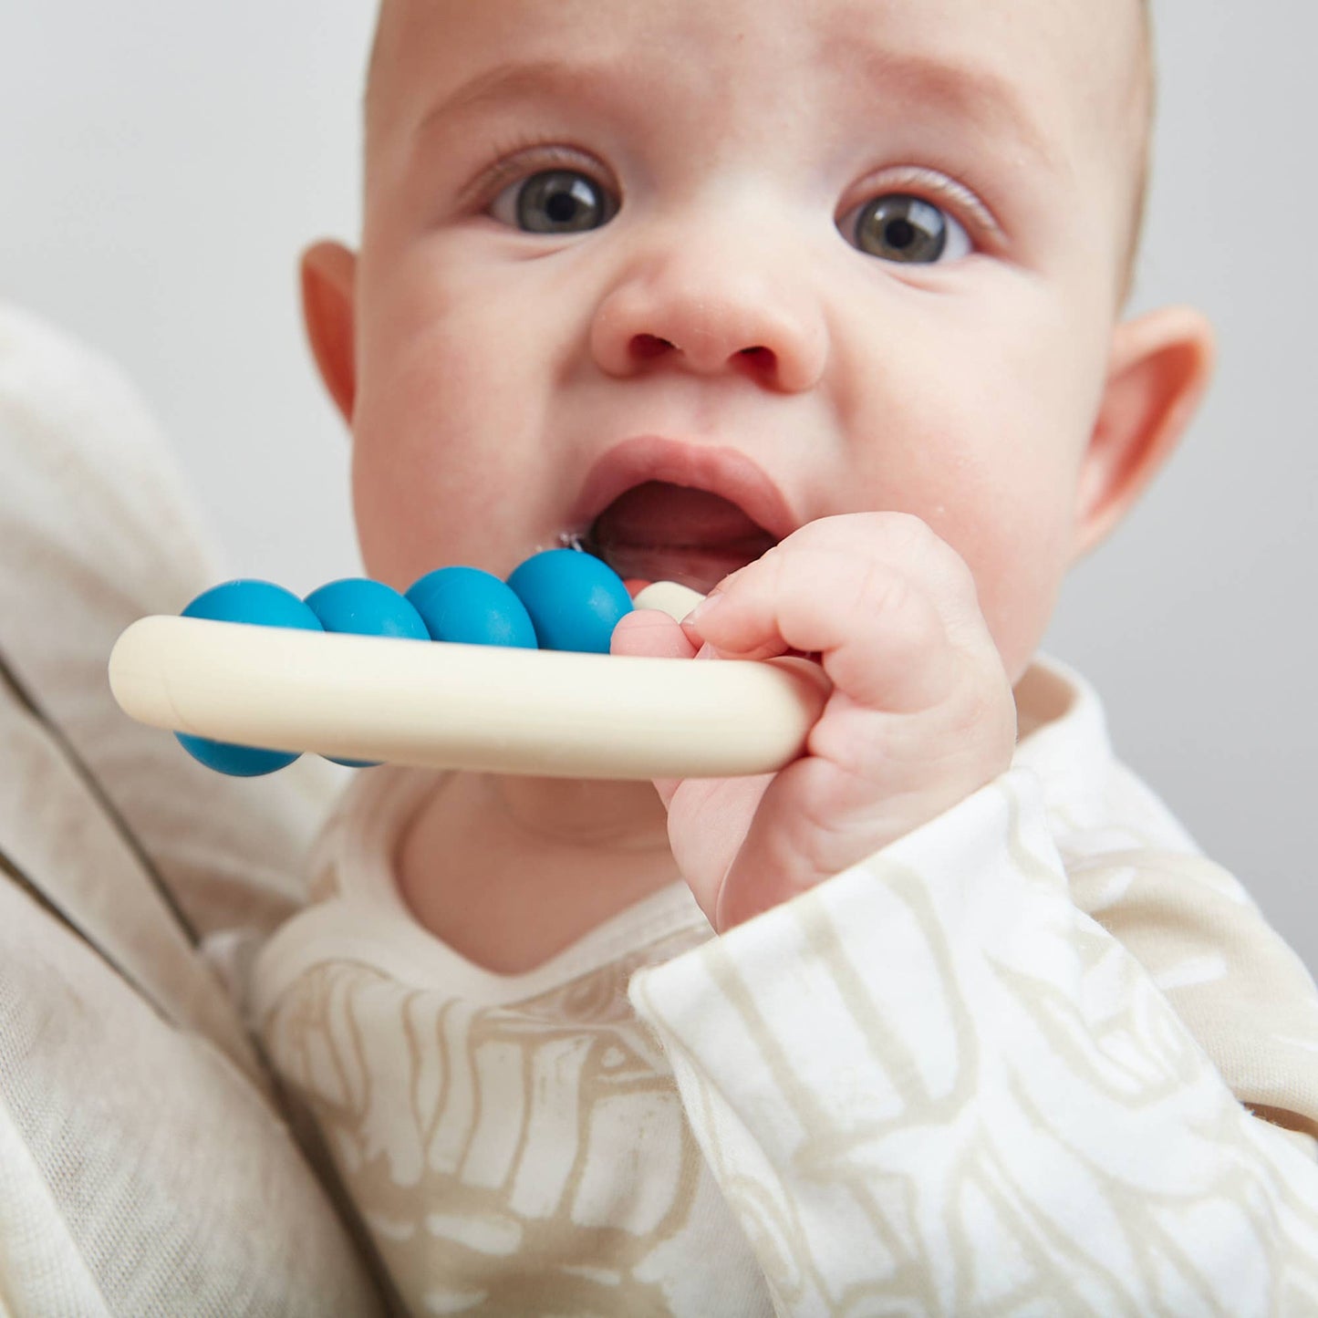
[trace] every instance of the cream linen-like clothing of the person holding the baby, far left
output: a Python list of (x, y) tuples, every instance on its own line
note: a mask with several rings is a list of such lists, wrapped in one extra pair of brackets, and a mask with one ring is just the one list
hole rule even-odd
[(0, 544), (0, 1313), (384, 1313), (200, 946), (298, 908), (335, 778), (115, 708), (115, 637), (220, 564), (120, 374), (3, 306)]

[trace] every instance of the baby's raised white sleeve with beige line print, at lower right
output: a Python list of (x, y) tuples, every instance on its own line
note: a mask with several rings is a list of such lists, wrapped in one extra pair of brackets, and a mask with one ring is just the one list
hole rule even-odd
[(782, 1314), (1318, 1313), (1318, 1164), (1077, 909), (1027, 770), (631, 999)]

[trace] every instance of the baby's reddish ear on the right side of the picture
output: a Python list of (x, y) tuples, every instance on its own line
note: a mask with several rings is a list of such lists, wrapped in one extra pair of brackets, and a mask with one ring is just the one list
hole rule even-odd
[(1083, 456), (1073, 558), (1126, 515), (1176, 448), (1213, 376), (1213, 327), (1191, 307), (1161, 307), (1112, 332), (1107, 385)]

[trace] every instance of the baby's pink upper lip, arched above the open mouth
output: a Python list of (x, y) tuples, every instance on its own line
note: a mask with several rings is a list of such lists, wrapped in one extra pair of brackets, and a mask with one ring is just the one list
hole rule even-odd
[(619, 496), (646, 481), (668, 481), (735, 503), (775, 540), (800, 525), (783, 492), (753, 459), (735, 448), (637, 435), (616, 444), (590, 468), (572, 509), (572, 526), (589, 530)]

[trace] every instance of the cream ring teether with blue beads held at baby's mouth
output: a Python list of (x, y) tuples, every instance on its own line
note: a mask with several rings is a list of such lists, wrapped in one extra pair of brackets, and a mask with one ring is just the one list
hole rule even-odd
[[(609, 654), (633, 608), (681, 619), (672, 581), (635, 602), (593, 555), (547, 550), (507, 579), (439, 568), (406, 594), (349, 577), (299, 600), (241, 580), (120, 637), (120, 708), (210, 768), (270, 774), (303, 751), (480, 772), (651, 779), (774, 772), (818, 718), (804, 659), (691, 663)], [(428, 642), (416, 645), (416, 642)]]

